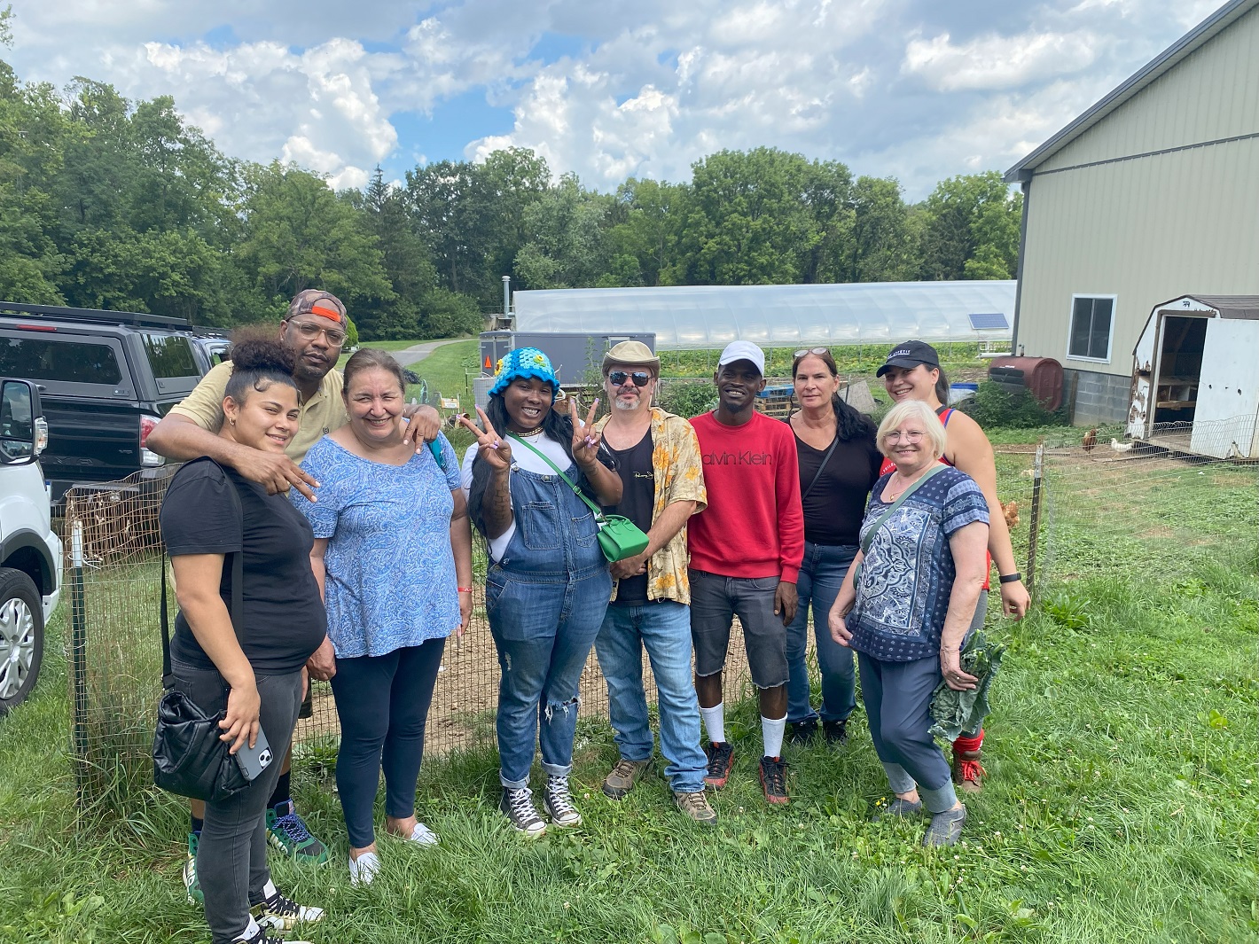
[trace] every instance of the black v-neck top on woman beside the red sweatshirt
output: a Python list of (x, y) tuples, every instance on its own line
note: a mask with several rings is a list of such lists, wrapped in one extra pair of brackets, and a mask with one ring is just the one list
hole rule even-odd
[[(799, 491), (803, 495), (817, 475), (826, 449), (815, 449), (797, 435), (796, 454), (799, 457)], [(836, 443), (822, 477), (803, 500), (805, 540), (827, 546), (857, 546), (866, 500), (879, 481), (881, 464), (883, 453), (874, 444), (872, 435)]]

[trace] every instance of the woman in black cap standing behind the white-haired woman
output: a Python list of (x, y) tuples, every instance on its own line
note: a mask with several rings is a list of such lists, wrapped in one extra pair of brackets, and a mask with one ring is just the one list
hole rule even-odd
[[(922, 400), (939, 417), (944, 424), (944, 453), (940, 462), (966, 472), (974, 480), (988, 502), (988, 558), (985, 570), (983, 593), (974, 609), (971, 628), (983, 626), (988, 608), (988, 589), (992, 561), (997, 564), (1001, 589), (1001, 609), (1015, 619), (1022, 619), (1031, 604), (1031, 595), (1024, 587), (1022, 575), (1015, 564), (1015, 550), (1010, 542), (1010, 529), (997, 498), (997, 463), (992, 453), (992, 443), (983, 434), (980, 424), (961, 410), (947, 407), (948, 378), (940, 369), (940, 359), (935, 349), (923, 341), (898, 344), (888, 354), (886, 362), (879, 368), (888, 394), (895, 403)], [(890, 471), (890, 462), (884, 464), (884, 472)], [(953, 741), (953, 780), (967, 793), (978, 793), (982, 788), (983, 767), (980, 764), (983, 746), (983, 729), (963, 731)]]

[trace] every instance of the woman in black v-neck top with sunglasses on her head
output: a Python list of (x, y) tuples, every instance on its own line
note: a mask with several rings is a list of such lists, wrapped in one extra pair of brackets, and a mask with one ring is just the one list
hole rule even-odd
[(831, 638), (826, 617), (857, 553), (857, 531), (883, 454), (874, 422), (840, 399), (838, 374), (828, 349), (796, 351), (792, 378), (799, 409), (788, 423), (796, 434), (805, 510), (805, 560), (796, 584), (799, 607), (787, 627), (787, 722), (796, 744), (813, 736), (820, 717), (810, 702), (806, 662), (811, 609), (827, 744), (847, 743), (849, 716), (856, 706), (852, 651)]

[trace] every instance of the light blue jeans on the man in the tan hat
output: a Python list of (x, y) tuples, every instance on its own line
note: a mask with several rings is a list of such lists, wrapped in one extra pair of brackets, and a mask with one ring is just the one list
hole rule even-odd
[(691, 682), (691, 612), (674, 600), (643, 607), (608, 607), (594, 641), (608, 681), (608, 715), (626, 760), (647, 760), (652, 751), (642, 651), (647, 649), (660, 707), (660, 750), (665, 777), (676, 793), (704, 789), (708, 759), (700, 748), (700, 705)]

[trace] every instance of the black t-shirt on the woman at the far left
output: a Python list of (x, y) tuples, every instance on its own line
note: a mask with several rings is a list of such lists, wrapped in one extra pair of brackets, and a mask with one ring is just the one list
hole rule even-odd
[[(240, 496), (240, 512), (228, 491), (233, 485)], [(306, 665), (324, 641), (327, 615), (310, 564), (315, 535), (286, 496), (267, 495), (262, 486), (212, 459), (195, 459), (171, 480), (160, 521), (166, 553), (172, 558), (243, 549), (244, 626), (237, 628), (237, 636), (254, 671), (295, 672)], [(232, 563), (227, 558), (219, 595), (230, 613)], [(183, 613), (175, 617), (171, 657), (214, 668)]]

